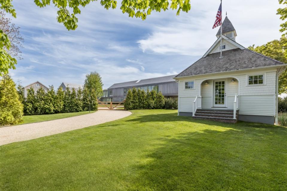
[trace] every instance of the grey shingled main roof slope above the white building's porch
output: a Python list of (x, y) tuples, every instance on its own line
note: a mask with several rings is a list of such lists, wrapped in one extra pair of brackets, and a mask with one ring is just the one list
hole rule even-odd
[(206, 57), (202, 57), (178, 74), (175, 78), (285, 65), (283, 62), (264, 56), (255, 51), (251, 51), (247, 48), (236, 48), (223, 51), (222, 56), (223, 58), (219, 58), (220, 52), (217, 52), (209, 54)]

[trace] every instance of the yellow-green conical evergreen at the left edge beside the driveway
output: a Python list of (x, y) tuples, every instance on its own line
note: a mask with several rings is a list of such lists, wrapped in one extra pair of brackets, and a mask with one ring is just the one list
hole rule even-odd
[(9, 75), (0, 80), (0, 125), (16, 124), (22, 120), (23, 105), (19, 101), (16, 84)]

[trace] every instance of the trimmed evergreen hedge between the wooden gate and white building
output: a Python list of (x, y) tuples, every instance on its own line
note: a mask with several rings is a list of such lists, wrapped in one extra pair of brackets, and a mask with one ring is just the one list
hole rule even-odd
[(163, 109), (165, 106), (164, 96), (161, 92), (136, 90), (133, 88), (127, 92), (124, 102), (125, 110), (133, 109)]

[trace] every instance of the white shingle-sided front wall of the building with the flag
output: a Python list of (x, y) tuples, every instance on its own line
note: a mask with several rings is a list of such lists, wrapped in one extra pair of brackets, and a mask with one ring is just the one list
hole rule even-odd
[[(264, 74), (264, 85), (247, 85), (248, 75)], [(202, 96), (202, 108), (212, 107), (212, 80), (227, 78), (227, 108), (233, 109), (234, 95), (239, 94), (239, 114), (274, 116), (276, 69), (257, 69), (248, 71), (187, 77), (179, 80), (180, 112), (192, 112), (193, 101)], [(232, 78), (236, 79), (231, 82)], [(239, 80), (239, 82), (237, 81)], [(207, 80), (208, 85), (205, 85)], [(195, 89), (185, 90), (184, 82), (195, 81)], [(240, 87), (240, 88), (238, 88)]]

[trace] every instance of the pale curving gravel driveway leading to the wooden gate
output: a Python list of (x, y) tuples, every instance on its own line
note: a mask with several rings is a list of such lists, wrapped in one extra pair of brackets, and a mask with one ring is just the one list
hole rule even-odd
[(95, 113), (16, 126), (0, 128), (0, 145), (23, 140), (31, 140), (75, 129), (81, 129), (101, 123), (121, 119), (131, 114), (130, 111), (100, 110)]

